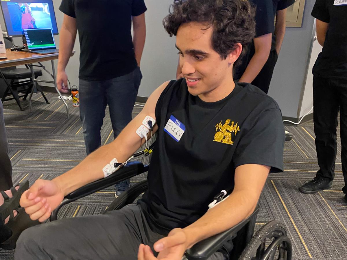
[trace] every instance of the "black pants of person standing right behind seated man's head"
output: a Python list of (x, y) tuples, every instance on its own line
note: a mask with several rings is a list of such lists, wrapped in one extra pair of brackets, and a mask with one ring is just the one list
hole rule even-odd
[(273, 69), (275, 68), (278, 59), (276, 50), (270, 52), (269, 58), (264, 64), (264, 67), (259, 72), (258, 76), (252, 81), (252, 85), (259, 87), (268, 94), (270, 82), (272, 79)]

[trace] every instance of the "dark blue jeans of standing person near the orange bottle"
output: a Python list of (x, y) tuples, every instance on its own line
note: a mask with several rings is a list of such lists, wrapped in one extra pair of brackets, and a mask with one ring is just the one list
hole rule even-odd
[(142, 79), (140, 68), (105, 81), (79, 79), (79, 115), (87, 155), (101, 146), (100, 131), (109, 106), (113, 137), (132, 120), (132, 111)]

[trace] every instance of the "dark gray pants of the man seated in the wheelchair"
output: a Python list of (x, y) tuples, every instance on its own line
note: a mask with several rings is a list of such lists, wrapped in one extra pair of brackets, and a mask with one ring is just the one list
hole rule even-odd
[[(162, 237), (151, 230), (139, 206), (126, 207), (28, 228), (17, 241), (15, 260), (136, 260), (141, 243), (153, 251)], [(221, 253), (209, 258), (223, 259)]]

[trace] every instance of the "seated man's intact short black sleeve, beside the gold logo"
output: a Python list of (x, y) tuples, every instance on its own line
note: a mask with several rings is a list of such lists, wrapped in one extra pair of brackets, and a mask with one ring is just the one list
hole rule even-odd
[(235, 168), (244, 164), (271, 166), (270, 173), (283, 171), (285, 129), (281, 111), (263, 111), (254, 126), (239, 141), (232, 158)]

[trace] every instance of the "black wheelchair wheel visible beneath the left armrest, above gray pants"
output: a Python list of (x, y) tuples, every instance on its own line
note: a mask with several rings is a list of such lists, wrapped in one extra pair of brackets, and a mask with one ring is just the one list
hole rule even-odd
[(133, 203), (138, 196), (148, 190), (148, 181), (144, 180), (132, 186), (130, 189), (123, 192), (118, 198), (112, 201), (110, 206), (104, 211), (103, 214), (111, 210), (118, 210), (126, 205)]

